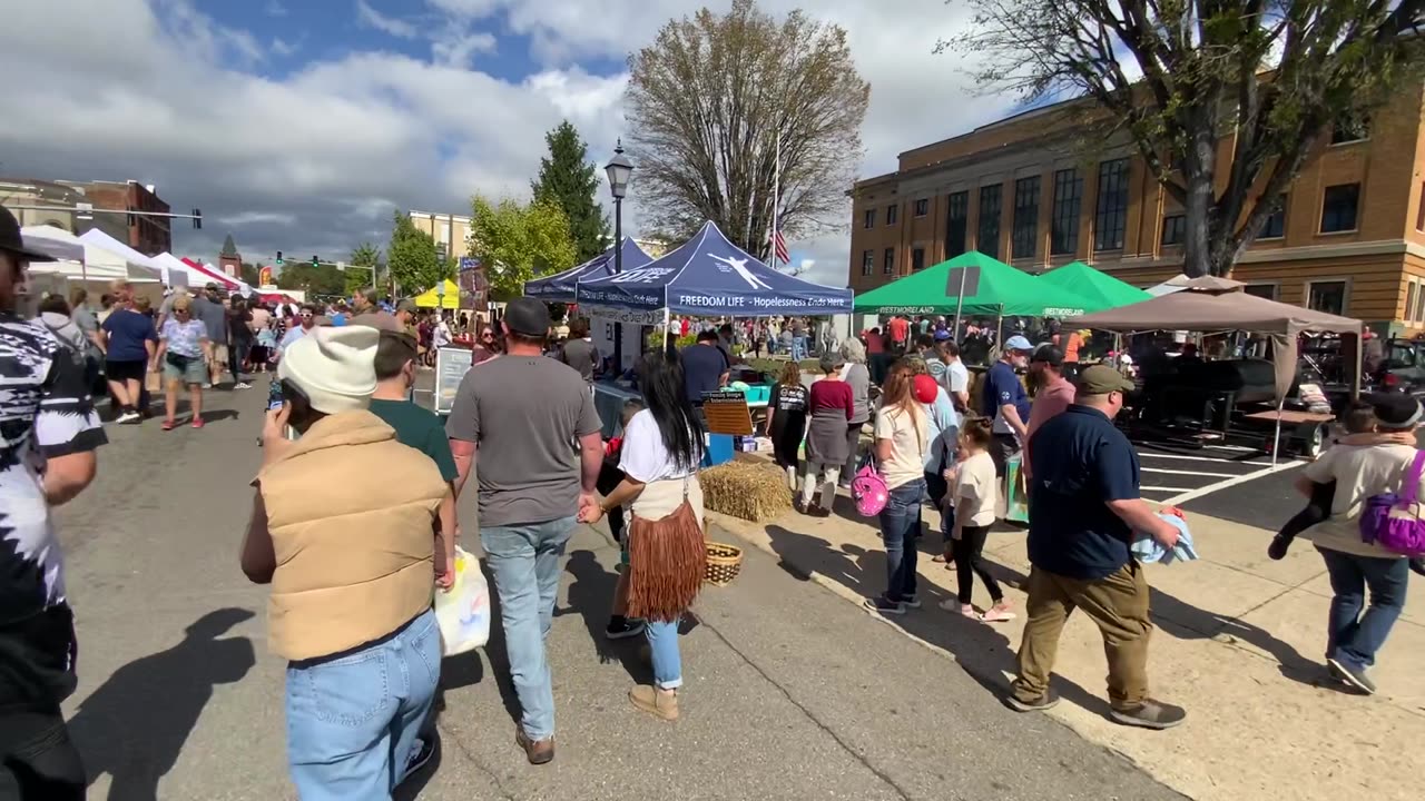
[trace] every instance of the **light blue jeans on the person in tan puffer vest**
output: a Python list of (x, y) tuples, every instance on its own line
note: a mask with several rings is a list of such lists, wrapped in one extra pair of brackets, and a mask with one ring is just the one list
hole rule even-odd
[(286, 668), (286, 758), (302, 801), (390, 798), (440, 678), (440, 630), (426, 610), (338, 658)]

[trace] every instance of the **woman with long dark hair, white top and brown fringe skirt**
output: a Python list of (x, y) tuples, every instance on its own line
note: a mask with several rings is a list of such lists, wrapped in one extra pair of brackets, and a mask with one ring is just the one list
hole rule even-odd
[(618, 467), (624, 480), (598, 506), (580, 512), (596, 523), (608, 509), (628, 506), (628, 617), (647, 620), (653, 686), (640, 684), (628, 700), (663, 720), (678, 718), (683, 660), (678, 621), (703, 584), (703, 423), (683, 389), (678, 356), (650, 352), (638, 365), (647, 409), (624, 426)]

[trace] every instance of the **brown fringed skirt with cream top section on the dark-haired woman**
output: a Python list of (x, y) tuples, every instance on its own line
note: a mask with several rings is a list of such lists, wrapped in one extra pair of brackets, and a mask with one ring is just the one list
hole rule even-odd
[[(703, 587), (707, 563), (697, 477), (647, 485), (633, 503), (628, 526), (628, 616), (644, 620), (678, 620)], [(648, 515), (677, 506), (671, 513)], [(694, 506), (697, 505), (697, 507)]]

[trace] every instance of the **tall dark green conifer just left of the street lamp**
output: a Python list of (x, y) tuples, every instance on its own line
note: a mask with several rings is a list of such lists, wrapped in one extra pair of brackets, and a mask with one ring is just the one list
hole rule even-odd
[(544, 134), (549, 155), (540, 160), (539, 178), (530, 184), (534, 198), (559, 205), (569, 218), (574, 261), (586, 262), (608, 248), (608, 218), (594, 200), (603, 182), (598, 165), (589, 161), (589, 147), (579, 130), (564, 120)]

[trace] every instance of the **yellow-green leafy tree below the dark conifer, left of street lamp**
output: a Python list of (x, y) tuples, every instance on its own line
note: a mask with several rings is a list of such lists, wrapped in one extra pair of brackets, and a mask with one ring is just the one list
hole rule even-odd
[(526, 281), (574, 267), (569, 219), (554, 202), (475, 195), (470, 207), (470, 255), (484, 265), (492, 296), (519, 296)]

